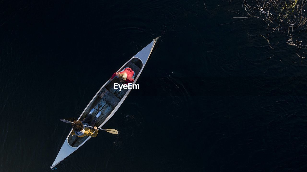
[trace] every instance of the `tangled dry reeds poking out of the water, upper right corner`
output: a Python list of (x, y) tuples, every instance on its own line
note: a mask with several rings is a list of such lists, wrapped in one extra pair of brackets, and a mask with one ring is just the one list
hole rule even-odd
[[(263, 37), (268, 42), (268, 35), (278, 32), (288, 37), (286, 39), (288, 45), (307, 49), (307, 40), (305, 39), (307, 31), (306, 4), (307, 0), (243, 0), (244, 13), (240, 13), (240, 15), (242, 18), (262, 19), (267, 24), (267, 36)], [(269, 46), (274, 49), (270, 42)], [(298, 54), (297, 56), (305, 58)]]

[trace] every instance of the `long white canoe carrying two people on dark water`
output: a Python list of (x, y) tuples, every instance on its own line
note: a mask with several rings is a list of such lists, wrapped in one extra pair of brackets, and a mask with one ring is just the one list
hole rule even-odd
[[(130, 67), (134, 70), (135, 77), (132, 84), (138, 80), (138, 77), (142, 73), (147, 60), (150, 57), (150, 54), (153, 51), (155, 43), (157, 39), (153, 39), (153, 41), (144, 47), (140, 52), (135, 54), (128, 62), (126, 62), (120, 69), (116, 72), (121, 71), (126, 67)], [(111, 82), (108, 80), (96, 93), (93, 99), (88, 103), (87, 107), (83, 110), (78, 120), (83, 120), (85, 116), (90, 112), (92, 108), (95, 108), (95, 111), (92, 113), (93, 118), (96, 114), (101, 111), (102, 114), (99, 116), (95, 126), (101, 128), (110, 120), (110, 118), (115, 114), (116, 110), (120, 107), (120, 105), (124, 102), (127, 95), (130, 93), (131, 89), (122, 89), (119, 91), (118, 89), (113, 88), (113, 83), (119, 83), (118, 78), (113, 79)], [(56, 169), (56, 165), (63, 161), (66, 157), (80, 148), (87, 140), (89, 140), (90, 136), (85, 137), (77, 137), (76, 135), (72, 135), (72, 129), (69, 132), (67, 138), (64, 141), (62, 148), (60, 149), (56, 159), (50, 166), (51, 169)]]

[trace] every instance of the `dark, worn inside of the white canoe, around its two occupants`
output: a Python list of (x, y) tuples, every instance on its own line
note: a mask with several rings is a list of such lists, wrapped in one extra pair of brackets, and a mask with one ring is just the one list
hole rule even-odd
[[(130, 67), (135, 72), (135, 78), (136, 78), (140, 70), (142, 69), (143, 64), (140, 59), (132, 58), (123, 68), (126, 68), (126, 67)], [(120, 69), (119, 71), (121, 71), (122, 69)], [(96, 114), (99, 111), (102, 112), (95, 124), (95, 126), (97, 127), (101, 125), (103, 121), (111, 114), (111, 112), (117, 106), (117, 103), (123, 98), (123, 96), (126, 94), (128, 90), (128, 89), (122, 89), (121, 91), (119, 91), (119, 88), (113, 89), (114, 82), (119, 83), (118, 78), (113, 79), (110, 83), (108, 83), (104, 88), (100, 90), (99, 94), (95, 97), (95, 99), (93, 99), (93, 101), (84, 111), (84, 113), (81, 115), (81, 118), (80, 118), (81, 121), (87, 116), (87, 114), (92, 108), (95, 108), (95, 111), (92, 114), (93, 118), (95, 118)], [(70, 133), (68, 137), (68, 143), (72, 147), (78, 147), (80, 144), (82, 144), (87, 139), (87, 137), (88, 136), (78, 137)]]

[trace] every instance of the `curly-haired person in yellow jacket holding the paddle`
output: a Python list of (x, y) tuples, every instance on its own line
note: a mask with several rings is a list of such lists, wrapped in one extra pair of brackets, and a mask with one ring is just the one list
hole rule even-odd
[[(84, 136), (96, 137), (97, 136), (98, 129), (94, 125), (97, 122), (101, 114), (101, 111), (99, 111), (96, 117), (91, 121), (91, 123), (88, 124), (93, 117), (92, 113), (94, 111), (95, 109), (93, 108), (83, 121), (74, 121), (74, 123), (72, 124), (72, 129), (73, 129), (72, 135), (76, 135), (78, 137), (84, 137)], [(89, 129), (87, 127), (84, 127), (84, 125), (92, 126), (94, 127), (94, 129)]]

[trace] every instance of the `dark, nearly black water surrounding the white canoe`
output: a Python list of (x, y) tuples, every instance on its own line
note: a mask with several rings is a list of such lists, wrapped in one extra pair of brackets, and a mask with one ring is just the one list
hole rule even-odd
[(302, 50), (282, 34), (270, 48), (258, 18), (226, 24), (240, 1), (205, 3), (1, 1), (0, 171), (51, 171), (70, 130), (59, 119), (163, 32), (105, 125), (119, 134), (99, 132), (56, 171), (306, 171)]

